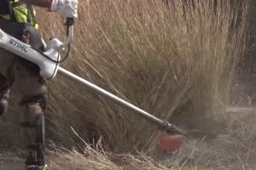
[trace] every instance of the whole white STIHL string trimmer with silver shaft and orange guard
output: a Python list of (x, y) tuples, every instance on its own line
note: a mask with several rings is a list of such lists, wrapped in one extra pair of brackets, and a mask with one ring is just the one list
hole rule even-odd
[[(66, 48), (69, 48), (71, 42), (73, 41), (73, 24), (74, 20), (72, 18), (67, 19), (67, 41), (61, 42), (57, 38), (49, 40), (47, 43), (47, 48), (45, 52), (38, 51), (32, 48), (29, 44), (21, 42), (15, 37), (10, 36), (6, 32), (0, 29), (0, 48), (4, 48), (9, 52), (20, 56), (23, 59), (29, 60), (36, 64), (40, 68), (40, 75), (48, 80), (53, 79), (56, 73), (59, 72), (61, 75), (71, 79), (75, 82), (79, 82), (84, 88), (87, 88), (95, 94), (99, 94), (105, 99), (112, 101), (113, 103), (124, 107), (127, 110), (132, 111), (138, 116), (142, 116), (148, 122), (155, 124), (160, 127), (160, 129), (165, 130), (167, 133), (171, 134), (181, 134), (186, 135), (182, 129), (173, 125), (170, 122), (161, 120), (160, 118), (149, 114), (147, 111), (143, 111), (135, 105), (120, 99), (116, 95), (109, 93), (108, 91), (96, 86), (95, 84), (86, 81), (84, 78), (73, 74), (70, 71), (65, 70), (60, 67), (61, 52)], [(173, 148), (178, 148), (182, 144), (181, 135), (172, 135), (169, 137), (164, 137), (160, 139), (160, 148), (163, 150), (173, 150)], [(171, 144), (171, 145), (170, 145)]]

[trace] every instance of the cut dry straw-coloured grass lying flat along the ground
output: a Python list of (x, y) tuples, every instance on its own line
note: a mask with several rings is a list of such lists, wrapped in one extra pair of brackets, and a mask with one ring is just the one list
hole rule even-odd
[(253, 116), (255, 110), (233, 110), (225, 113), (227, 129), (211, 142), (188, 140), (181, 150), (172, 154), (160, 153), (157, 161), (143, 153), (113, 155), (101, 149), (94, 150), (89, 145), (83, 152), (57, 150), (52, 152), (51, 169), (132, 169), (132, 170), (210, 170), (255, 169), (256, 129)]

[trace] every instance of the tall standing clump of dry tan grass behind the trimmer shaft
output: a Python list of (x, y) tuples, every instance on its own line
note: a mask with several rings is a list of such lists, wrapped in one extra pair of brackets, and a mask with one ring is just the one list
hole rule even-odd
[[(193, 116), (183, 127), (202, 128), (198, 116), (224, 110), (229, 102), (244, 42), (243, 20), (234, 24), (238, 16), (230, 1), (211, 2), (81, 2), (73, 55), (65, 66), (155, 116), (171, 122)], [(41, 20), (44, 32), (61, 28)], [(56, 79), (50, 94), (52, 131), (60, 129), (55, 138), (62, 143), (71, 142), (69, 125), (90, 143), (102, 136), (104, 147), (115, 152), (148, 150), (154, 142), (148, 122), (73, 82)]]

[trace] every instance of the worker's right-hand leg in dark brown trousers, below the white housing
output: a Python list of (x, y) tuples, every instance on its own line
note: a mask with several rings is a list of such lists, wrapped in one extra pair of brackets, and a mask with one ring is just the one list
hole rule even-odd
[(21, 126), (28, 144), (27, 169), (33, 166), (44, 168), (44, 111), (46, 109), (47, 88), (39, 76), (38, 66), (24, 59), (16, 65), (16, 87), (21, 94), (23, 109)]

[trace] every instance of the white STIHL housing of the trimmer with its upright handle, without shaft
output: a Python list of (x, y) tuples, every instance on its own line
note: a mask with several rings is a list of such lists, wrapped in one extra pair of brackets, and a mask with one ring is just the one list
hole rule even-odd
[[(73, 20), (73, 19), (69, 19)], [(69, 22), (73, 24), (72, 22)], [(15, 37), (10, 36), (0, 29), (0, 48), (29, 60), (40, 68), (40, 76), (51, 79), (56, 76), (59, 65), (61, 63), (60, 52), (69, 47), (73, 39), (73, 25), (68, 26), (67, 42), (61, 42), (57, 38), (52, 38), (46, 42), (47, 48), (45, 52), (32, 48), (31, 45), (21, 42)]]

